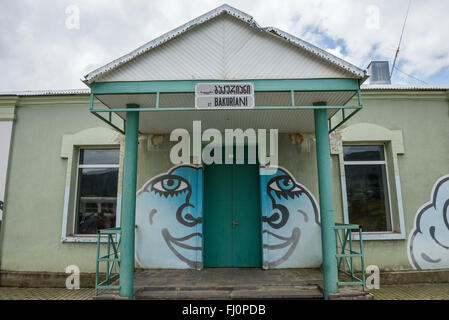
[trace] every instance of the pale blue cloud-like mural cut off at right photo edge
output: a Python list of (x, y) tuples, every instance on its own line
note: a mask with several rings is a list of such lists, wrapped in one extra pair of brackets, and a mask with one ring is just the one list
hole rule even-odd
[(408, 255), (415, 269), (449, 268), (449, 175), (435, 183), (430, 202), (418, 210)]

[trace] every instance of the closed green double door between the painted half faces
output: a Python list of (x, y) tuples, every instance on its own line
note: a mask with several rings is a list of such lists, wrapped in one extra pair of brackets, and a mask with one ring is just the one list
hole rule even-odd
[(204, 266), (260, 267), (261, 213), (257, 164), (206, 166)]

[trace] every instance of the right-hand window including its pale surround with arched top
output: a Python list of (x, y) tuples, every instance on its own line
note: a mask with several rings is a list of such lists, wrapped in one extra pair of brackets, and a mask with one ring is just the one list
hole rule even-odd
[(399, 172), (405, 153), (402, 131), (355, 123), (333, 131), (330, 145), (341, 182), (342, 216), (336, 212), (336, 221), (360, 224), (363, 240), (406, 239)]

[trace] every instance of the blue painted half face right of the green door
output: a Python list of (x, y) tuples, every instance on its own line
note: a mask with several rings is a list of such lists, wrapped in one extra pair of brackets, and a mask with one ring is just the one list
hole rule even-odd
[(285, 170), (261, 176), (265, 268), (319, 267), (321, 230), (316, 201)]

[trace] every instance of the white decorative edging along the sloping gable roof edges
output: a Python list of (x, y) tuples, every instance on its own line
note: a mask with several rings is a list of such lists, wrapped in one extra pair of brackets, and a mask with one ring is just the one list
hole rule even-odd
[(362, 79), (362, 81), (367, 78), (367, 74), (366, 74), (365, 70), (362, 70), (362, 69), (350, 64), (349, 62), (346, 62), (343, 59), (340, 59), (340, 58), (328, 53), (327, 51), (322, 50), (306, 41), (303, 41), (287, 32), (284, 32), (284, 31), (279, 30), (274, 27), (263, 28), (263, 27), (259, 26), (259, 24), (253, 19), (252, 16), (250, 16), (240, 10), (237, 10), (227, 4), (224, 4), (212, 11), (209, 11), (209, 12), (187, 22), (186, 24), (183, 24), (183, 25), (177, 27), (176, 29), (173, 29), (172, 31), (169, 31), (169, 32), (163, 34), (162, 36), (160, 36), (160, 37), (144, 44), (143, 46), (133, 50), (132, 52), (104, 65), (103, 67), (100, 67), (100, 68), (90, 72), (89, 74), (87, 74), (85, 76), (84, 82), (86, 84), (90, 84), (90, 83), (96, 81), (102, 75), (119, 68), (123, 64), (125, 64), (133, 59), (136, 59), (137, 57), (141, 56), (142, 54), (145, 54), (145, 53), (149, 52), (150, 50), (153, 50), (154, 48), (161, 46), (162, 44), (170, 41), (171, 39), (178, 37), (181, 34), (184, 34), (187, 31), (189, 31), (193, 28), (196, 28), (199, 25), (202, 25), (207, 21), (214, 19), (221, 14), (228, 14), (228, 15), (230, 15), (234, 18), (237, 18), (238, 20), (246, 23), (247, 25), (249, 25), (252, 28), (258, 29), (260, 31), (263, 31), (263, 32), (271, 34), (271, 35), (274, 34), (274, 35), (278, 36), (279, 38), (283, 39), (284, 41), (292, 44), (293, 46), (299, 47), (299, 48), (305, 50), (306, 52), (311, 53), (312, 55), (316, 56), (317, 58), (327, 61), (327, 62), (331, 63), (332, 65), (337, 66), (346, 72), (349, 72), (351, 75), (354, 76), (354, 78)]

